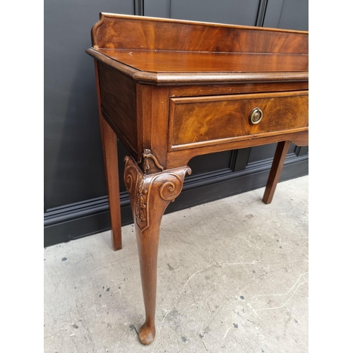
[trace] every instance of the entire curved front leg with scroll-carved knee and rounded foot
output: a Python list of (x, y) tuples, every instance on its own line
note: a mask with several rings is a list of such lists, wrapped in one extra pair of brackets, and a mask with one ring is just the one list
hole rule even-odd
[(145, 323), (138, 337), (144, 345), (155, 338), (155, 301), (157, 289), (157, 253), (160, 222), (167, 205), (181, 192), (189, 167), (143, 174), (131, 157), (125, 157), (124, 181), (130, 196), (135, 221), (140, 274), (145, 303)]

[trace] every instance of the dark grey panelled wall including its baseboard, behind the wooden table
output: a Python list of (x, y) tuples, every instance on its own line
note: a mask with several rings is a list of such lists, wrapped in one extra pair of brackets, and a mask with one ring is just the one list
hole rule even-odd
[[(109, 229), (90, 28), (100, 12), (307, 30), (308, 0), (44, 1), (44, 245)], [(193, 174), (167, 212), (265, 185), (275, 145), (193, 158)], [(282, 179), (307, 174), (292, 145)], [(119, 143), (119, 167), (128, 154)], [(121, 178), (124, 224), (131, 210)]]

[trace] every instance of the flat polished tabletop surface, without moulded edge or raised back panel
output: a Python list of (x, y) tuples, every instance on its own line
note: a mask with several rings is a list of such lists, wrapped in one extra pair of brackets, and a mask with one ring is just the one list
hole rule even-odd
[(180, 52), (110, 48), (95, 50), (131, 68), (154, 73), (308, 71), (308, 55), (306, 54)]

